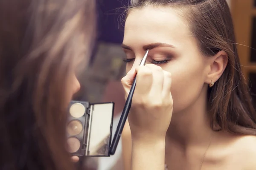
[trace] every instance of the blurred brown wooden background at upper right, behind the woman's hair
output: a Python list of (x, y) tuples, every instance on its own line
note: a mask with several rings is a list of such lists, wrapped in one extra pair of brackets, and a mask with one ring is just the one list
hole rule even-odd
[(242, 74), (256, 108), (256, 0), (230, 0)]

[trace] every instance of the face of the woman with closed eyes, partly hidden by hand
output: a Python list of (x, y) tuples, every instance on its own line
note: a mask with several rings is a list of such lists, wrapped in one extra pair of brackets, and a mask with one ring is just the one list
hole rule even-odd
[(138, 66), (145, 50), (150, 49), (147, 63), (172, 73), (174, 112), (198, 99), (209, 71), (208, 57), (201, 54), (188, 27), (183, 17), (164, 7), (132, 9), (125, 23), (126, 71)]

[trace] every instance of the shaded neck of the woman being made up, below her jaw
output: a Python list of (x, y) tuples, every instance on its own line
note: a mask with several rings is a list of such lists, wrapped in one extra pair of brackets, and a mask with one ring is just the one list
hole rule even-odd
[(207, 116), (206, 94), (186, 110), (173, 113), (172, 121), (166, 133), (166, 142), (186, 148), (189, 145), (201, 145), (209, 142), (212, 136), (209, 117)]

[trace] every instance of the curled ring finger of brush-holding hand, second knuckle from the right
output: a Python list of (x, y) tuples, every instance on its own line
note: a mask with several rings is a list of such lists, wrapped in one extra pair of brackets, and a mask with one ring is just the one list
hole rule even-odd
[(148, 67), (152, 71), (153, 75), (151, 93), (153, 93), (154, 96), (161, 96), (163, 89), (163, 69), (154, 64), (147, 64), (145, 67)]

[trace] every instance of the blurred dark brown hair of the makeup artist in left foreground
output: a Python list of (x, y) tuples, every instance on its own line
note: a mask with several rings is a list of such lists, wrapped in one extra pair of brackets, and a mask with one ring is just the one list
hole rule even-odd
[(0, 0), (0, 169), (72, 170), (66, 106), (95, 0)]

